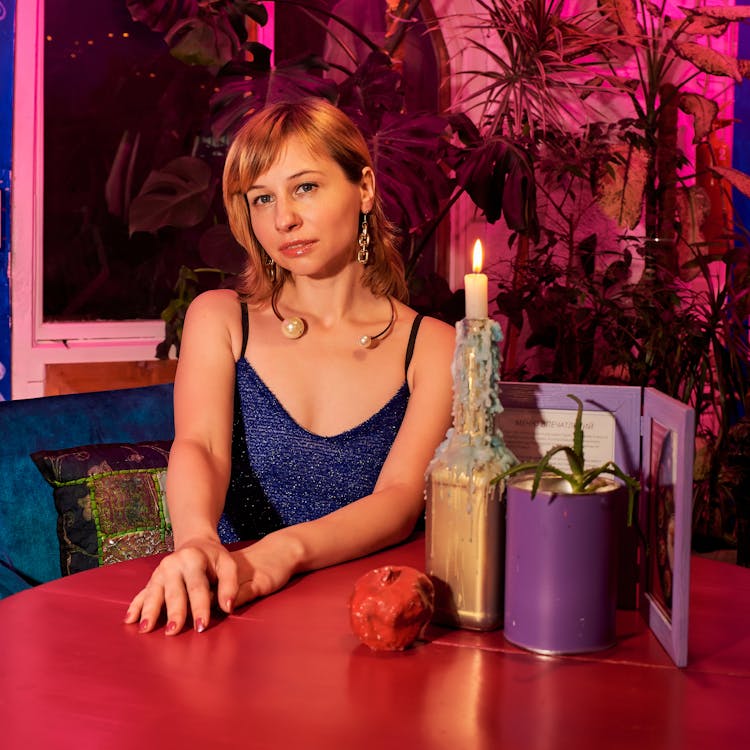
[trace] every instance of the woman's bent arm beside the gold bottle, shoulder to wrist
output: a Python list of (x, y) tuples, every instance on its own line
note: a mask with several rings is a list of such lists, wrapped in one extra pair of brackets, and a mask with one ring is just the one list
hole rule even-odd
[(455, 331), (425, 319), (410, 367), (404, 421), (371, 495), (289, 526), (235, 553), (237, 603), (270, 594), (295, 573), (369, 554), (405, 539), (424, 507), (425, 472), (451, 423)]

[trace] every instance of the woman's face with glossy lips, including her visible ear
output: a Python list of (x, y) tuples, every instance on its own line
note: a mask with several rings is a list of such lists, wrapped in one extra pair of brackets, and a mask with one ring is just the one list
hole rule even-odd
[(359, 213), (372, 209), (373, 190), (369, 167), (353, 184), (328, 154), (313, 154), (290, 138), (247, 191), (253, 232), (294, 275), (333, 275), (356, 257)]

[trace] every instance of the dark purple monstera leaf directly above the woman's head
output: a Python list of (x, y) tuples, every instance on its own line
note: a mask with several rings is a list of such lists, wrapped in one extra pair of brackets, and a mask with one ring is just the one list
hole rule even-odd
[(308, 55), (271, 68), (271, 50), (257, 42), (247, 48), (252, 60), (234, 60), (216, 79), (217, 92), (211, 97), (211, 131), (216, 138), (233, 135), (245, 119), (272, 102), (318, 96), (336, 99), (336, 85), (316, 72), (327, 65)]

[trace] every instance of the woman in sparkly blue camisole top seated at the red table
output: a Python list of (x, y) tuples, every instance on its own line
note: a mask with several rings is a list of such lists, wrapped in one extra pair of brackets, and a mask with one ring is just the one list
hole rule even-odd
[[(185, 319), (167, 496), (175, 551), (125, 622), (167, 635), (291, 576), (405, 539), (450, 424), (453, 329), (403, 303), (367, 146), (323, 100), (256, 114), (224, 201), (248, 253), (240, 294)], [(229, 491), (228, 491), (229, 490)], [(228, 551), (223, 542), (254, 539)]]

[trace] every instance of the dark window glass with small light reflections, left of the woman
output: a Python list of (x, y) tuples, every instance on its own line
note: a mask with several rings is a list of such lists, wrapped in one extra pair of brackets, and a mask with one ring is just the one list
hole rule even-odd
[(200, 265), (204, 227), (130, 236), (128, 209), (153, 169), (212, 148), (209, 80), (125, 0), (46, 3), (46, 321), (158, 318), (180, 265)]

